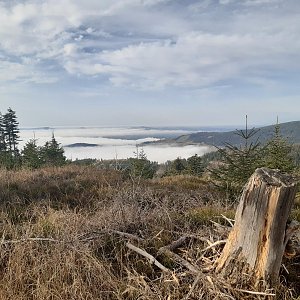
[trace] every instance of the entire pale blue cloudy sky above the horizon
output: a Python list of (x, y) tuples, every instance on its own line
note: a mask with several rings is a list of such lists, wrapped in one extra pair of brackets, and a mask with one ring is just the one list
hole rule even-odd
[(299, 82), (299, 0), (0, 0), (21, 127), (300, 120)]

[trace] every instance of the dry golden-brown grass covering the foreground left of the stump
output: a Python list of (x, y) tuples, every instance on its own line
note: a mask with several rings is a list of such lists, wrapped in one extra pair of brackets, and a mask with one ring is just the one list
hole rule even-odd
[[(222, 245), (203, 252), (206, 240), (226, 238), (228, 231), (210, 221), (228, 225), (220, 216), (231, 218), (234, 210), (199, 179), (137, 183), (118, 172), (75, 166), (1, 171), (0, 205), (1, 300), (267, 299), (226, 286), (212, 273), (195, 282), (182, 265), (158, 255), (183, 235), (193, 237), (176, 253), (195, 267), (209, 267), (219, 255)], [(118, 231), (138, 237), (132, 243), (173, 273), (162, 274), (129, 250)], [(296, 299), (290, 280), (277, 299)]]

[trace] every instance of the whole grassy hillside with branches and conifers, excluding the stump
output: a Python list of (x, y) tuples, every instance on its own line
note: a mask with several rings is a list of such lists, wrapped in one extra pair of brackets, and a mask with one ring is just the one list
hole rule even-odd
[(279, 126), (264, 146), (248, 141), (255, 131), (238, 134), (240, 147), (162, 165), (139, 147), (126, 160), (70, 162), (54, 136), (19, 151), (10, 109), (0, 118), (0, 300), (299, 299), (298, 254), (284, 257), (278, 289), (260, 294), (247, 274), (229, 283), (214, 272), (255, 168), (299, 173)]

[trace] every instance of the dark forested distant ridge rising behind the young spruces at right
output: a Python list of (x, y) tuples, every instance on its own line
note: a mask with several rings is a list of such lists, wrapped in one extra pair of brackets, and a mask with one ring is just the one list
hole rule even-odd
[[(259, 139), (261, 143), (270, 140), (274, 133), (274, 126), (265, 126), (258, 128), (258, 133), (253, 137), (253, 140)], [(280, 132), (283, 137), (286, 137), (290, 143), (300, 143), (300, 121), (293, 121), (280, 124)], [(239, 145), (241, 137), (236, 134), (236, 131), (228, 132), (197, 132), (187, 135), (181, 135), (178, 138), (172, 139), (172, 143), (203, 143), (207, 145), (223, 146), (225, 143)]]

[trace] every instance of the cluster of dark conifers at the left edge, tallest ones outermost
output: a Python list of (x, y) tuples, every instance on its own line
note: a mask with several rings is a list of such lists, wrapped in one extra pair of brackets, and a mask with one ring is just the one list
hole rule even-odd
[(0, 112), (0, 166), (7, 169), (19, 167), (39, 168), (65, 164), (64, 150), (56, 141), (54, 134), (43, 146), (37, 145), (35, 138), (29, 140), (22, 151), (19, 150), (19, 122), (16, 112), (8, 108)]

